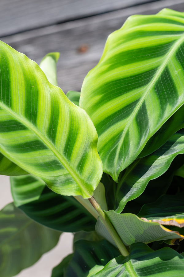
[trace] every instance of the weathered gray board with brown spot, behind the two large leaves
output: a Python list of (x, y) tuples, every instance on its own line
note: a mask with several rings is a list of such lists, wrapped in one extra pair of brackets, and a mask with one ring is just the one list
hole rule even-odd
[[(155, 14), (164, 7), (184, 11), (184, 1), (162, 0), (45, 27), (22, 34), (2, 38), (16, 50), (25, 53), (29, 58), (40, 62), (48, 52), (59, 51), (58, 83), (66, 93), (68, 90), (79, 90), (87, 72), (99, 61), (107, 36), (117, 30), (132, 14)], [(89, 49), (80, 53), (79, 47), (87, 44)]]

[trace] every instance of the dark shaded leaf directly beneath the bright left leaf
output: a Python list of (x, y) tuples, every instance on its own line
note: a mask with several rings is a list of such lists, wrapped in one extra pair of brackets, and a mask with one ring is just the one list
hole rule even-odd
[(56, 194), (32, 175), (10, 183), (15, 205), (38, 223), (63, 232), (94, 230), (96, 220), (73, 196)]

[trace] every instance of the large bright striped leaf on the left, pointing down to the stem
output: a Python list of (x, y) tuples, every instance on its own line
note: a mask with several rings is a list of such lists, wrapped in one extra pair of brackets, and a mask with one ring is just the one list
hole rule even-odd
[(91, 197), (102, 162), (89, 116), (35, 62), (0, 46), (0, 152), (56, 193)]

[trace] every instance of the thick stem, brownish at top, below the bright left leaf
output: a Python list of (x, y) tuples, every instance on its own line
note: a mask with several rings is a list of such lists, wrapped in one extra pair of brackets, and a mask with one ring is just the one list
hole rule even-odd
[(107, 228), (107, 230), (109, 231), (109, 234), (111, 235), (113, 241), (116, 243), (119, 251), (121, 252), (121, 254), (123, 256), (128, 256), (128, 250), (126, 249), (124, 243), (122, 242), (120, 236), (117, 234), (117, 231), (114, 229), (112, 223), (110, 222), (110, 220), (108, 219), (108, 217), (105, 215), (104, 211), (102, 211), (100, 205), (98, 204), (98, 202), (94, 199), (93, 196), (91, 196), (91, 198), (88, 199), (91, 203), (91, 205), (95, 208), (95, 210), (98, 212), (98, 215), (100, 216), (100, 218), (102, 219), (102, 222), (104, 223), (105, 227)]

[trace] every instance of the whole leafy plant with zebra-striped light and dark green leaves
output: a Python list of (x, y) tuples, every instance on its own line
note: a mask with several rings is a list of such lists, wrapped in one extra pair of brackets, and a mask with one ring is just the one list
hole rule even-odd
[(81, 93), (57, 86), (58, 57), (39, 67), (0, 44), (0, 173), (14, 199), (0, 214), (1, 276), (62, 231), (74, 253), (52, 277), (183, 276), (184, 14), (128, 18)]

